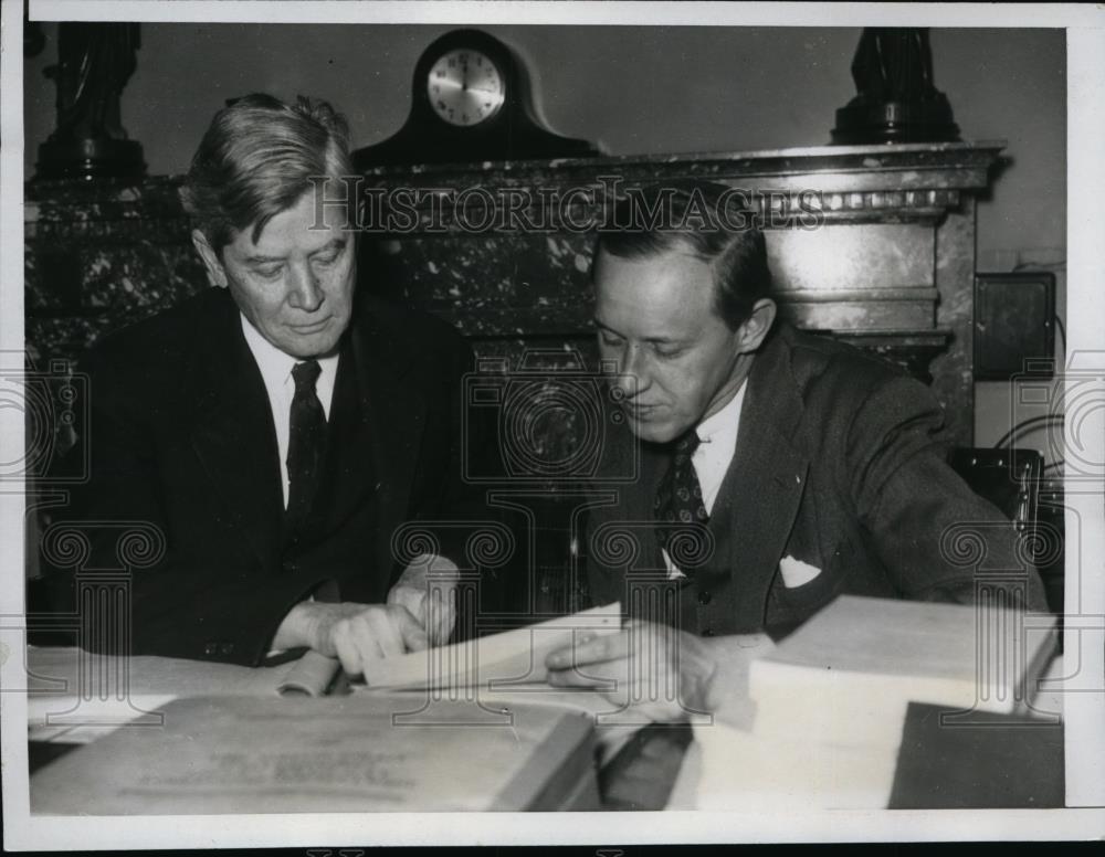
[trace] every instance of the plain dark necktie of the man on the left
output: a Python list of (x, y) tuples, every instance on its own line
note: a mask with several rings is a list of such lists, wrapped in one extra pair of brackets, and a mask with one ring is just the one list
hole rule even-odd
[(287, 444), (286, 518), (293, 529), (298, 529), (306, 519), (323, 470), (326, 412), (315, 393), (315, 382), (322, 371), (317, 360), (296, 363), (292, 369), (295, 395)]

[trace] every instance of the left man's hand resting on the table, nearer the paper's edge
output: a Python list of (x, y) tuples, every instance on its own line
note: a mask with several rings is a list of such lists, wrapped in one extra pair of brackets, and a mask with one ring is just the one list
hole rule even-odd
[(351, 602), (296, 604), (273, 638), (273, 648), (308, 646), (336, 657), (350, 676), (359, 676), (371, 660), (421, 652), (428, 645), (425, 632), (406, 607)]

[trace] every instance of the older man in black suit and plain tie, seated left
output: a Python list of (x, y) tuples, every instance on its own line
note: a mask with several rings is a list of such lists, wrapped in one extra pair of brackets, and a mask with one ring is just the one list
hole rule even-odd
[(136, 654), (257, 665), (309, 647), (356, 675), (450, 635), (425, 573), (455, 564), (399, 568), (391, 540), (464, 505), (472, 355), (448, 325), (355, 294), (351, 174), (325, 102), (220, 110), (181, 191), (214, 288), (86, 363), (92, 470), (73, 518), (105, 556), (103, 522), (165, 537), (130, 585)]

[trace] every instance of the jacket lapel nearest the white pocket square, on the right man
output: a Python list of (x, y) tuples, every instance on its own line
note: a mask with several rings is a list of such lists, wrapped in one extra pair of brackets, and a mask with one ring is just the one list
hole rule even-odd
[(760, 627), (809, 470), (808, 457), (792, 444), (803, 409), (785, 331), (753, 361), (747, 383), (736, 451), (709, 526), (728, 544), (720, 559), (723, 573), (734, 575), (733, 618), (738, 627)]

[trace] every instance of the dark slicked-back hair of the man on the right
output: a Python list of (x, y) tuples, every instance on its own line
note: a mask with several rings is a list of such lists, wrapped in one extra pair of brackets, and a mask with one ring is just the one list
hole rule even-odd
[(734, 189), (709, 181), (653, 184), (620, 198), (599, 233), (600, 252), (619, 258), (688, 253), (714, 269), (717, 314), (736, 330), (771, 293), (758, 212)]

